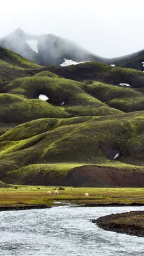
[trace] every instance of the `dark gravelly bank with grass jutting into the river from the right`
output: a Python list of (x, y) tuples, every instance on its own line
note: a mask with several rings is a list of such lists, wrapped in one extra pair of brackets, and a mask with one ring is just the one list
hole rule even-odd
[(104, 230), (144, 237), (144, 211), (131, 211), (92, 220)]

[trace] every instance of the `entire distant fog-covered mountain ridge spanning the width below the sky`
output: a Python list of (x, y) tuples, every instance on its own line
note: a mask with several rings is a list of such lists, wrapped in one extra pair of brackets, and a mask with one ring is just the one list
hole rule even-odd
[(61, 65), (65, 60), (72, 60), (75, 62), (94, 61), (144, 70), (142, 63), (144, 62), (144, 50), (108, 59), (86, 51), (76, 43), (60, 36), (30, 35), (20, 28), (0, 38), (0, 46), (43, 66)]

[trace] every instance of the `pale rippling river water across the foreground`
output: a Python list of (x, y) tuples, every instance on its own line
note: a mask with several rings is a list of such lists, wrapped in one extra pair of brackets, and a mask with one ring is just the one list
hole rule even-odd
[(144, 207), (52, 207), (0, 212), (1, 256), (144, 255), (144, 238), (98, 228), (88, 219)]

